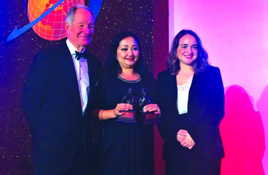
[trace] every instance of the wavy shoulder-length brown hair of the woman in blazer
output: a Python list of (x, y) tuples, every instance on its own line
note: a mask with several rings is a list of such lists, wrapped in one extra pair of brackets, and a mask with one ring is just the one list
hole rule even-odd
[(195, 37), (197, 41), (197, 52), (198, 52), (197, 58), (191, 63), (191, 66), (193, 67), (193, 71), (196, 74), (199, 74), (199, 73), (204, 72), (204, 70), (206, 70), (206, 68), (208, 68), (209, 66), (208, 54), (206, 50), (202, 47), (200, 38), (192, 30), (184, 29), (184, 30), (181, 30), (174, 38), (172, 42), (171, 50), (168, 54), (167, 67), (171, 75), (177, 75), (180, 70), (180, 63), (177, 57), (177, 48), (179, 47), (179, 40), (181, 39), (181, 37), (187, 34)]

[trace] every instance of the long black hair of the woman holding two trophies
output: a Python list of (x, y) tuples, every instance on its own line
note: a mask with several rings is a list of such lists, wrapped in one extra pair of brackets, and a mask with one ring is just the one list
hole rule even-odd
[(122, 68), (120, 67), (118, 60), (116, 60), (117, 48), (119, 46), (120, 41), (122, 41), (123, 39), (125, 39), (127, 37), (133, 37), (135, 39), (135, 41), (137, 42), (137, 44), (138, 44), (139, 59), (138, 59), (138, 61), (136, 62), (135, 66), (134, 66), (134, 72), (136, 72), (136, 73), (138, 73), (138, 74), (140, 74), (142, 76), (147, 76), (148, 71), (145, 68), (145, 64), (144, 64), (144, 61), (143, 61), (141, 44), (139, 42), (139, 39), (138, 39), (137, 35), (134, 34), (133, 32), (129, 32), (129, 31), (119, 32), (113, 38), (113, 40), (111, 42), (111, 45), (110, 45), (110, 48), (109, 48), (109, 53), (108, 53), (108, 66), (107, 66), (107, 69), (109, 71), (113, 71), (116, 74), (121, 74), (122, 73)]

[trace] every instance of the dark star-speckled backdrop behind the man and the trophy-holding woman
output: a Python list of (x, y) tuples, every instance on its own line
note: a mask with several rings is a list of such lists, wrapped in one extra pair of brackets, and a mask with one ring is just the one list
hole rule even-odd
[[(7, 42), (18, 24), (21, 28), (29, 23), (23, 1), (1, 0), (0, 20), (0, 174), (33, 174), (33, 145), (21, 109), (21, 91), (35, 53), (66, 39), (47, 41), (30, 29)], [(111, 39), (121, 30), (131, 30), (138, 35), (145, 63), (152, 73), (152, 0), (103, 0), (87, 50), (105, 63)]]

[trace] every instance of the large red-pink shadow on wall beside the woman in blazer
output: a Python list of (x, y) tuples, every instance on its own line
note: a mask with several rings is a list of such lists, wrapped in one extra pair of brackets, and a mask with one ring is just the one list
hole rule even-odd
[(225, 158), (221, 174), (264, 174), (264, 127), (249, 94), (238, 85), (225, 88), (225, 116), (220, 124)]

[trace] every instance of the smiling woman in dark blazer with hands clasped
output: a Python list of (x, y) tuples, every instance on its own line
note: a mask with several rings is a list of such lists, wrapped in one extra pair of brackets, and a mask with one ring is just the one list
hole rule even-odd
[(208, 54), (191, 30), (181, 30), (174, 38), (167, 67), (157, 77), (166, 175), (220, 174), (224, 156), (220, 70), (208, 64)]

